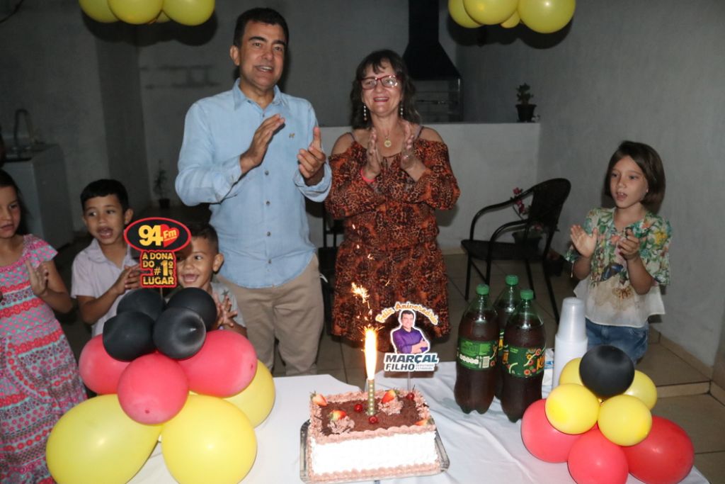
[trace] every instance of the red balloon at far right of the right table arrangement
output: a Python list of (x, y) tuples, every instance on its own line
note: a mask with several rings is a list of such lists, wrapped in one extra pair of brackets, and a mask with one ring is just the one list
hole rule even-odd
[(695, 447), (682, 427), (652, 417), (652, 430), (642, 442), (624, 447), (629, 472), (646, 484), (679, 483), (695, 462)]

